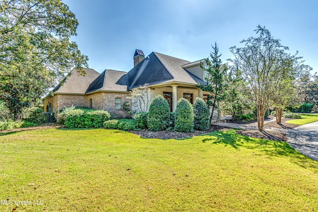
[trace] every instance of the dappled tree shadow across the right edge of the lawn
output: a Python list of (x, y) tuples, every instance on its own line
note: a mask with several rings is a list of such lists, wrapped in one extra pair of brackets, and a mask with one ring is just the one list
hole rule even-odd
[(212, 141), (211, 144), (224, 144), (239, 148), (255, 149), (263, 152), (270, 157), (287, 156), (290, 161), (304, 168), (315, 168), (318, 173), (318, 162), (298, 152), (285, 141), (269, 141), (264, 139), (255, 139), (237, 134), (234, 130), (226, 132), (214, 132), (210, 136), (215, 138), (205, 138), (202, 142)]

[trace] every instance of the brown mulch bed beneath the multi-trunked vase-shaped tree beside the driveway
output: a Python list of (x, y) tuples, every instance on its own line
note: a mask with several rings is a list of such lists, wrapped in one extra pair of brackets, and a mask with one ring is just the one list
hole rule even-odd
[(258, 131), (258, 130), (237, 130), (237, 134), (256, 139), (266, 139), (273, 141), (287, 141), (287, 137), (283, 133), (273, 131)]

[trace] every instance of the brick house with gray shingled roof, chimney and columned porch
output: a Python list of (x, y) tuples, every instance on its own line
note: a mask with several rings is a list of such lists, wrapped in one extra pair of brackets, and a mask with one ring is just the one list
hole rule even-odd
[(54, 116), (67, 106), (83, 106), (103, 109), (114, 118), (123, 118), (121, 104), (131, 100), (129, 92), (135, 87), (149, 84), (149, 99), (163, 95), (175, 111), (177, 100), (188, 99), (192, 104), (196, 97), (204, 98), (208, 92), (196, 85), (206, 84), (207, 74), (200, 67), (204, 60), (189, 62), (152, 52), (145, 58), (141, 50), (134, 55), (134, 68), (128, 72), (105, 70), (98, 73), (92, 69), (84, 69), (82, 76), (74, 70), (71, 75), (53, 89), (53, 95), (44, 97), (44, 112)]

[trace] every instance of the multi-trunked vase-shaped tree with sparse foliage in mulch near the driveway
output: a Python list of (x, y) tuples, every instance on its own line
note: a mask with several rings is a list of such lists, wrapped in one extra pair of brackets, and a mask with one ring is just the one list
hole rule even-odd
[[(244, 47), (231, 47), (235, 59), (229, 60), (236, 66), (242, 78), (248, 82), (251, 98), (257, 110), (258, 130), (263, 130), (265, 110), (273, 104), (273, 97), (281, 90), (286, 76), (294, 77), (295, 71), (308, 71), (310, 67), (299, 62), (301, 57), (285, 51), (279, 39), (274, 39), (265, 27), (257, 26), (258, 37), (249, 37), (240, 43)], [(300, 75), (300, 74), (299, 74)]]

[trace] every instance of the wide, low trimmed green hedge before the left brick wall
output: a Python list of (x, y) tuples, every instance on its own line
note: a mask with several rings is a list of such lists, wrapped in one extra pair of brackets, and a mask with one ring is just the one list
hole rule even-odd
[(63, 117), (66, 128), (100, 128), (111, 115), (104, 110), (73, 109), (67, 111)]

